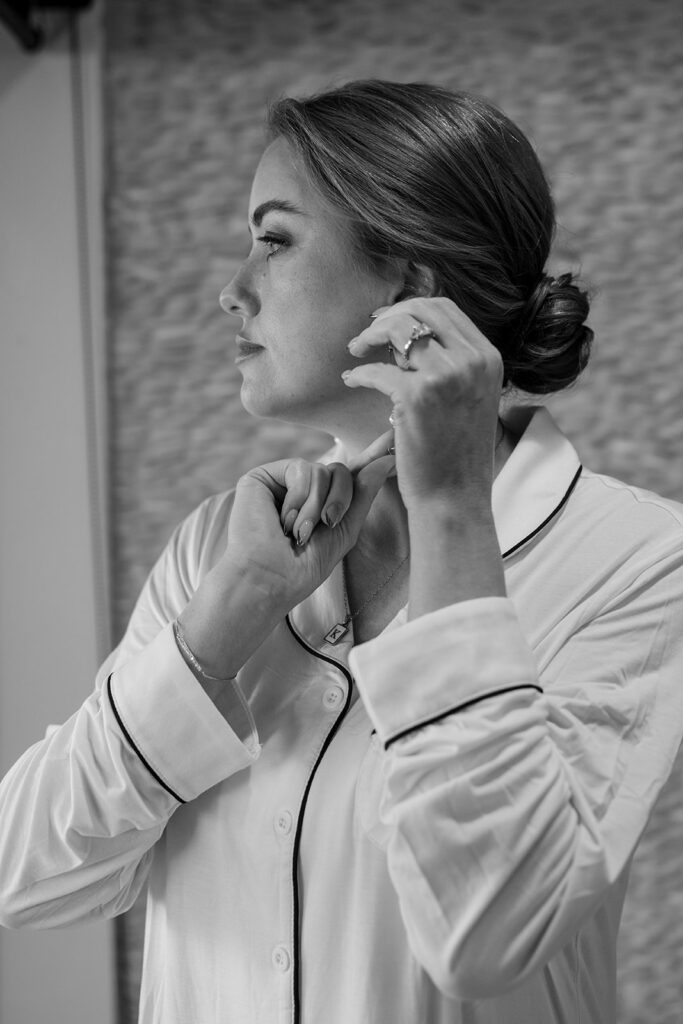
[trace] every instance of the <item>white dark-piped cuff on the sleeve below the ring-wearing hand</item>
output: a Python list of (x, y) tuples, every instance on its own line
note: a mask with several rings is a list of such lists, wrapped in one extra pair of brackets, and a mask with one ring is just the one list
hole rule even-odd
[(439, 608), (354, 647), (364, 703), (385, 745), (473, 700), (520, 686), (538, 669), (509, 598)]

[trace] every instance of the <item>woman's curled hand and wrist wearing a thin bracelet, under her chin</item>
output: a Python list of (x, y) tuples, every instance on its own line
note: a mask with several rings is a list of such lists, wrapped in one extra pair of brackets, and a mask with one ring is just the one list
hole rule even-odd
[[(184, 639), (213, 677), (237, 675), (274, 626), (355, 545), (395, 460), (387, 431), (348, 467), (285, 459), (237, 486), (225, 553), (183, 609)], [(331, 525), (331, 523), (335, 523)]]

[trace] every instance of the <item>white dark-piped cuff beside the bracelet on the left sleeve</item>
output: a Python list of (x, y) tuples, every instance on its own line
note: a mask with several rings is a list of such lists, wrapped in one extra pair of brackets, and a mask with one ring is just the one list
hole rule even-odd
[(114, 711), (137, 755), (180, 801), (194, 800), (251, 765), (258, 743), (243, 743), (185, 664), (169, 623), (115, 670)]

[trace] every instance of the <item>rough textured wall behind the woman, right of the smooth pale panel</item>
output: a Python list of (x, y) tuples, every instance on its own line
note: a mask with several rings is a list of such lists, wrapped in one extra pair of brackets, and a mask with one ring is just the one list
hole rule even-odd
[[(493, 13), (495, 12), (495, 13)], [(680, 0), (116, 0), (108, 13), (117, 633), (173, 525), (247, 468), (326, 438), (253, 420), (217, 296), (247, 248), (262, 113), (356, 77), (480, 92), (553, 181), (553, 268), (596, 289), (591, 368), (551, 408), (592, 468), (683, 499)], [(634, 868), (621, 1024), (680, 1022), (683, 766)], [(125, 932), (133, 1019), (139, 911)]]

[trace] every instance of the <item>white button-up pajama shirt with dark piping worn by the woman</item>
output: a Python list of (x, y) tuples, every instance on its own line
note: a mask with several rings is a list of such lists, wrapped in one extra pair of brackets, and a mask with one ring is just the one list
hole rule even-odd
[(251, 735), (173, 637), (226, 543), (232, 496), (203, 503), (92, 695), (2, 783), (2, 924), (111, 916), (147, 882), (141, 1024), (613, 1022), (628, 869), (683, 735), (683, 510), (512, 416), (509, 596), (331, 645), (337, 566), (240, 672)]

